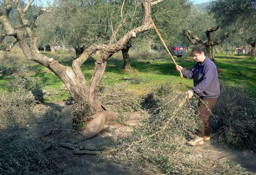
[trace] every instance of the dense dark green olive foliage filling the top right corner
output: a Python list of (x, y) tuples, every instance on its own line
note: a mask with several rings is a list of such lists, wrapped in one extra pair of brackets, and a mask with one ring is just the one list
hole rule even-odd
[(256, 59), (256, 1), (218, 0), (211, 3), (211, 13), (221, 26), (234, 26), (238, 35), (252, 46), (252, 58)]

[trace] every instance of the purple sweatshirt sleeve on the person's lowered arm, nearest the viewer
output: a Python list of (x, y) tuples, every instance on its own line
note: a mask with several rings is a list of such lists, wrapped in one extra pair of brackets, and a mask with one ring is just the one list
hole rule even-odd
[(205, 73), (203, 75), (203, 79), (198, 85), (194, 86), (191, 91), (195, 92), (197, 94), (204, 92), (210, 85), (210, 82), (213, 79), (213, 71), (208, 67), (205, 70)]

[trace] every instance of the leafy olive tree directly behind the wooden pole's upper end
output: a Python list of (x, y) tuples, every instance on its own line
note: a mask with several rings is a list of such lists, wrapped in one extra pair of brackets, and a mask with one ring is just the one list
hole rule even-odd
[[(138, 21), (138, 14), (141, 13), (138, 5), (138, 1), (134, 1), (132, 6), (128, 2), (124, 3), (124, 8), (129, 10), (126, 10), (123, 15), (127, 19), (131, 20), (127, 23), (131, 24), (127, 25), (127, 28), (131, 28), (133, 25), (136, 25), (135, 22)], [(184, 39), (182, 37), (182, 26), (184, 25), (185, 18), (189, 14), (188, 9), (190, 8), (191, 3), (189, 3), (187, 0), (165, 0), (151, 9), (152, 18), (167, 46), (184, 43)], [(127, 13), (127, 11), (131, 12)], [(128, 51), (132, 46), (139, 47), (139, 49), (143, 50), (152, 50), (152, 47), (157, 47), (159, 49), (164, 48), (159, 36), (154, 30), (143, 33), (136, 40), (132, 40), (124, 47), (124, 49), (122, 49), (124, 69), (130, 68)]]

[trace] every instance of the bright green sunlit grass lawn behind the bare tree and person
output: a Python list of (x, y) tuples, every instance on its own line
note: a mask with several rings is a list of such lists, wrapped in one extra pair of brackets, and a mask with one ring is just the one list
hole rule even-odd
[[(124, 72), (122, 70), (122, 57), (121, 53), (114, 54), (107, 63), (106, 72), (103, 76), (102, 85), (113, 85), (124, 81), (130, 82), (127, 89), (134, 90), (136, 94), (140, 95), (146, 93), (149, 87), (156, 85), (159, 82), (169, 80), (170, 83), (182, 82), (186, 88), (180, 90), (186, 91), (193, 86), (193, 81), (188, 79), (181, 79), (178, 72), (175, 69), (173, 61), (169, 57), (158, 57), (156, 59), (142, 60), (136, 59), (138, 53), (131, 51), (131, 72)], [(47, 56), (51, 56), (49, 52), (44, 52)], [(70, 54), (73, 58), (74, 53)], [(61, 64), (72, 66), (72, 58), (67, 53), (57, 53), (53, 56)], [(95, 58), (93, 56), (81, 67), (86, 81), (91, 78), (94, 69)], [(149, 56), (149, 58), (152, 58)], [(220, 81), (231, 85), (247, 85), (251, 88), (252, 92), (256, 94), (256, 60), (252, 60), (251, 57), (237, 56), (237, 55), (224, 55), (216, 54), (216, 65), (218, 68), (218, 78)], [(175, 57), (177, 64), (187, 69), (195, 65), (195, 61), (191, 56), (183, 56), (181, 58)], [(29, 65), (29, 75), (39, 77), (45, 87), (45, 90), (51, 90), (50, 98), (45, 102), (56, 102), (67, 99), (69, 93), (67, 91), (61, 91), (60, 88), (63, 82), (58, 79), (56, 75), (50, 72), (47, 68), (33, 62), (26, 62)], [(4, 90), (4, 82), (13, 75), (1, 75), (0, 76), (0, 91)], [(126, 77), (123, 80), (122, 78)], [(182, 86), (181, 86), (182, 87)]]

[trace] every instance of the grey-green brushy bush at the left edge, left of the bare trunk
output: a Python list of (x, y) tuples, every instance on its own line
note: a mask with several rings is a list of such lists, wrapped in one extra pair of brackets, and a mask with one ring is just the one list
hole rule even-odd
[(42, 97), (37, 79), (16, 76), (6, 84), (7, 91), (0, 94), (0, 123), (4, 125), (26, 124), (31, 108)]

